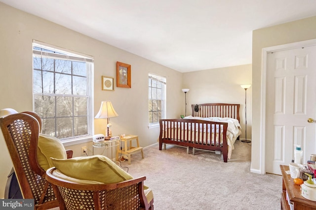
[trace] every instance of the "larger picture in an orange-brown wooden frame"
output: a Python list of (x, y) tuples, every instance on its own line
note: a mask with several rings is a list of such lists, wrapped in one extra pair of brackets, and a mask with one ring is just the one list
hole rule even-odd
[(131, 66), (117, 62), (117, 87), (131, 88)]

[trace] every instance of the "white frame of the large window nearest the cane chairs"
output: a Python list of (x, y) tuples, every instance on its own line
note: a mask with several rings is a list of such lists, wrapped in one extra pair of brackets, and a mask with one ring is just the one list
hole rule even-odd
[[(62, 54), (54, 54), (49, 53), (45, 51), (38, 51), (34, 50), (34, 47), (40, 47), (43, 49), (53, 50), (58, 53)], [(84, 61), (86, 62), (87, 67), (87, 92), (86, 95), (60, 95), (60, 94), (45, 94), (45, 93), (35, 93), (33, 92), (33, 111), (35, 110), (35, 100), (34, 97), (36, 95), (49, 95), (49, 96), (70, 96), (70, 97), (85, 97), (87, 98), (87, 134), (81, 135), (81, 136), (74, 136), (70, 138), (61, 139), (61, 142), (64, 144), (64, 146), (70, 146), (73, 144), (79, 144), (83, 142), (90, 141), (93, 135), (93, 129), (94, 129), (94, 118), (93, 118), (93, 57), (87, 56), (84, 54), (80, 54), (71, 50), (63, 49), (60, 47), (56, 47), (47, 43), (43, 43), (37, 40), (33, 40), (33, 56), (41, 56), (46, 58), (54, 58), (54, 59), (63, 59), (63, 60), (72, 60), (72, 61)], [(63, 55), (64, 54), (64, 55)], [(32, 61), (33, 63), (33, 61)], [(34, 67), (33, 67), (34, 71)], [(54, 73), (55, 74), (55, 73)], [(55, 116), (56, 117), (56, 116)], [(55, 128), (56, 129), (56, 128)]]

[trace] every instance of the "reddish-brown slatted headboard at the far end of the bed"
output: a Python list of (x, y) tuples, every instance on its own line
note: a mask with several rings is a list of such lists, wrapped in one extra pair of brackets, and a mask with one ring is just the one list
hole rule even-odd
[[(195, 106), (198, 106), (198, 112), (195, 111)], [(240, 121), (239, 118), (240, 104), (222, 104), (222, 103), (207, 103), (207, 104), (192, 104), (192, 116), (209, 118), (233, 118)]]

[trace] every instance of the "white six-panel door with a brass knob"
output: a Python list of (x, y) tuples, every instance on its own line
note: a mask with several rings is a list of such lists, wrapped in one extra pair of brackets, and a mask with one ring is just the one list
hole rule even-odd
[(266, 172), (280, 174), (294, 145), (306, 163), (316, 153), (316, 46), (268, 54), (266, 108)]

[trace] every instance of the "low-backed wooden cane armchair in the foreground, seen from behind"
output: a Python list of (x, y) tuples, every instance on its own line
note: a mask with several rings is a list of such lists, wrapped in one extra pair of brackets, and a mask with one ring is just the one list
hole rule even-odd
[(46, 180), (56, 188), (60, 210), (154, 210), (154, 199), (147, 202), (143, 182), (146, 177), (112, 184), (80, 184), (46, 171)]

